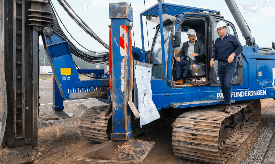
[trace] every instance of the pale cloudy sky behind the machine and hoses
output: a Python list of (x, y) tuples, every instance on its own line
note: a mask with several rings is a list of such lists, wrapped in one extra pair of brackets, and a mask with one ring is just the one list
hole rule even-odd
[[(78, 16), (105, 42), (109, 43), (109, 27), (111, 19), (109, 19), (109, 3), (116, 2), (127, 2), (133, 8), (133, 46), (142, 48), (141, 44), (141, 27), (139, 13), (145, 9), (158, 3), (157, 0), (66, 0)], [(65, 12), (61, 5), (56, 1), (52, 0), (57, 14), (61, 17), (65, 27), (71, 33), (71, 35), (85, 48), (94, 50), (96, 52), (106, 51), (107, 49), (98, 43), (95, 39), (84, 32)], [(144, 5), (145, 2), (145, 5)], [(245, 45), (245, 39), (242, 37), (241, 31), (239, 30), (237, 23), (235, 22), (232, 14), (230, 13), (225, 1), (183, 1), (183, 0), (164, 0), (165, 3), (199, 7), (204, 9), (217, 10), (221, 12), (221, 15), (225, 19), (232, 22), (237, 29), (237, 35), (242, 45)], [(275, 42), (275, 1), (257, 1), (257, 0), (235, 0), (244, 20), (247, 22), (251, 29), (251, 34), (255, 38), (256, 44), (259, 47), (272, 47), (272, 41)], [(144, 22), (144, 40), (145, 50), (148, 50), (148, 39), (146, 33), (145, 18)], [(147, 24), (149, 45), (152, 43), (152, 38), (155, 34), (155, 30)], [(63, 31), (64, 27), (61, 26)], [(69, 35), (67, 34), (69, 37)], [(70, 38), (70, 37), (69, 37)], [(73, 43), (73, 39), (70, 39)], [(42, 40), (40, 38), (40, 44)], [(79, 49), (84, 50), (75, 43)]]

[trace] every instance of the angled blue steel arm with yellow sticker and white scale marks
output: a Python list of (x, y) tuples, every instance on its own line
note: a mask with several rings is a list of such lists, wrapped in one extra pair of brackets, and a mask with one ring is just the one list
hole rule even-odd
[(62, 98), (68, 100), (107, 97), (109, 80), (81, 81), (75, 68), (68, 41), (52, 29), (50, 30), (51, 33), (49, 34), (44, 32), (44, 47)]

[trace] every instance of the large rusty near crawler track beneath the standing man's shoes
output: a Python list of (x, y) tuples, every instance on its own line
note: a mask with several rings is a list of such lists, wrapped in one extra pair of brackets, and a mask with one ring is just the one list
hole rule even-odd
[[(258, 125), (259, 104), (259, 100), (235, 103), (231, 113), (219, 112), (222, 106), (183, 113), (174, 122), (172, 145), (175, 154), (205, 163), (225, 163)], [(242, 116), (244, 112), (242, 121), (229, 128), (229, 117)]]

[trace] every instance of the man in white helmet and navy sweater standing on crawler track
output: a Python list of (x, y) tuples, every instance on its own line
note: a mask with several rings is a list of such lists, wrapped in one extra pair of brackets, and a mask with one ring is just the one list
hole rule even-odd
[(210, 60), (210, 66), (214, 67), (214, 61), (218, 60), (218, 74), (225, 104), (219, 111), (230, 113), (232, 93), (231, 81), (237, 67), (236, 56), (243, 51), (243, 46), (237, 36), (226, 32), (225, 22), (218, 22), (215, 30), (217, 30), (220, 37), (215, 41), (215, 51)]

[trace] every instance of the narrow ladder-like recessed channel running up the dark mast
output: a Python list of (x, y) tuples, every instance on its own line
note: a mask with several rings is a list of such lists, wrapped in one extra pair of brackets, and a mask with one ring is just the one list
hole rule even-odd
[(26, 137), (25, 1), (14, 0), (13, 10), (13, 139), (20, 139)]

